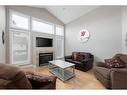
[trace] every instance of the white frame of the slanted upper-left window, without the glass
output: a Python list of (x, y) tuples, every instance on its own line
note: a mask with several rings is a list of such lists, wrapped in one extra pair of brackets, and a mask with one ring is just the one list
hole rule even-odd
[[(17, 26), (13, 26), (12, 25), (12, 14), (17, 14), (19, 16), (27, 18), (28, 19), (28, 29), (17, 27)], [(11, 29), (30, 30), (30, 16), (25, 15), (25, 14), (20, 13), (20, 12), (17, 12), (17, 11), (14, 11), (14, 10), (9, 10), (9, 26), (10, 26)]]

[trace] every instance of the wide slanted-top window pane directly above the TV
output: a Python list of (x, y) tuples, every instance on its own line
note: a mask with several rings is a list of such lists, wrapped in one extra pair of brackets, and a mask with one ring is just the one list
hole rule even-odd
[(40, 20), (33, 19), (32, 30), (36, 32), (54, 34), (54, 25), (47, 22), (42, 22)]

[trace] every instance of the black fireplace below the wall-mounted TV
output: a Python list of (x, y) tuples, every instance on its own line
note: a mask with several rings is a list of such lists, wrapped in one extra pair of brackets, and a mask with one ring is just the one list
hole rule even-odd
[(53, 53), (39, 53), (39, 66), (47, 65), (51, 60), (53, 60)]

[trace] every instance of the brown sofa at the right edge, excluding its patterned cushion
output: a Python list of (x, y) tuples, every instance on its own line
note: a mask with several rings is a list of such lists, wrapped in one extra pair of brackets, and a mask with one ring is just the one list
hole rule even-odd
[[(127, 62), (127, 55), (116, 54), (123, 62)], [(94, 66), (96, 78), (108, 89), (127, 89), (127, 66), (125, 68), (106, 68), (104, 62)]]

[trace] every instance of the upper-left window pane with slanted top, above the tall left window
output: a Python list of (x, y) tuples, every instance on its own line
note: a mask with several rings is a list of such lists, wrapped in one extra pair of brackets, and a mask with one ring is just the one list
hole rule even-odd
[(29, 17), (17, 12), (11, 12), (10, 14), (11, 28), (17, 29), (29, 29)]

